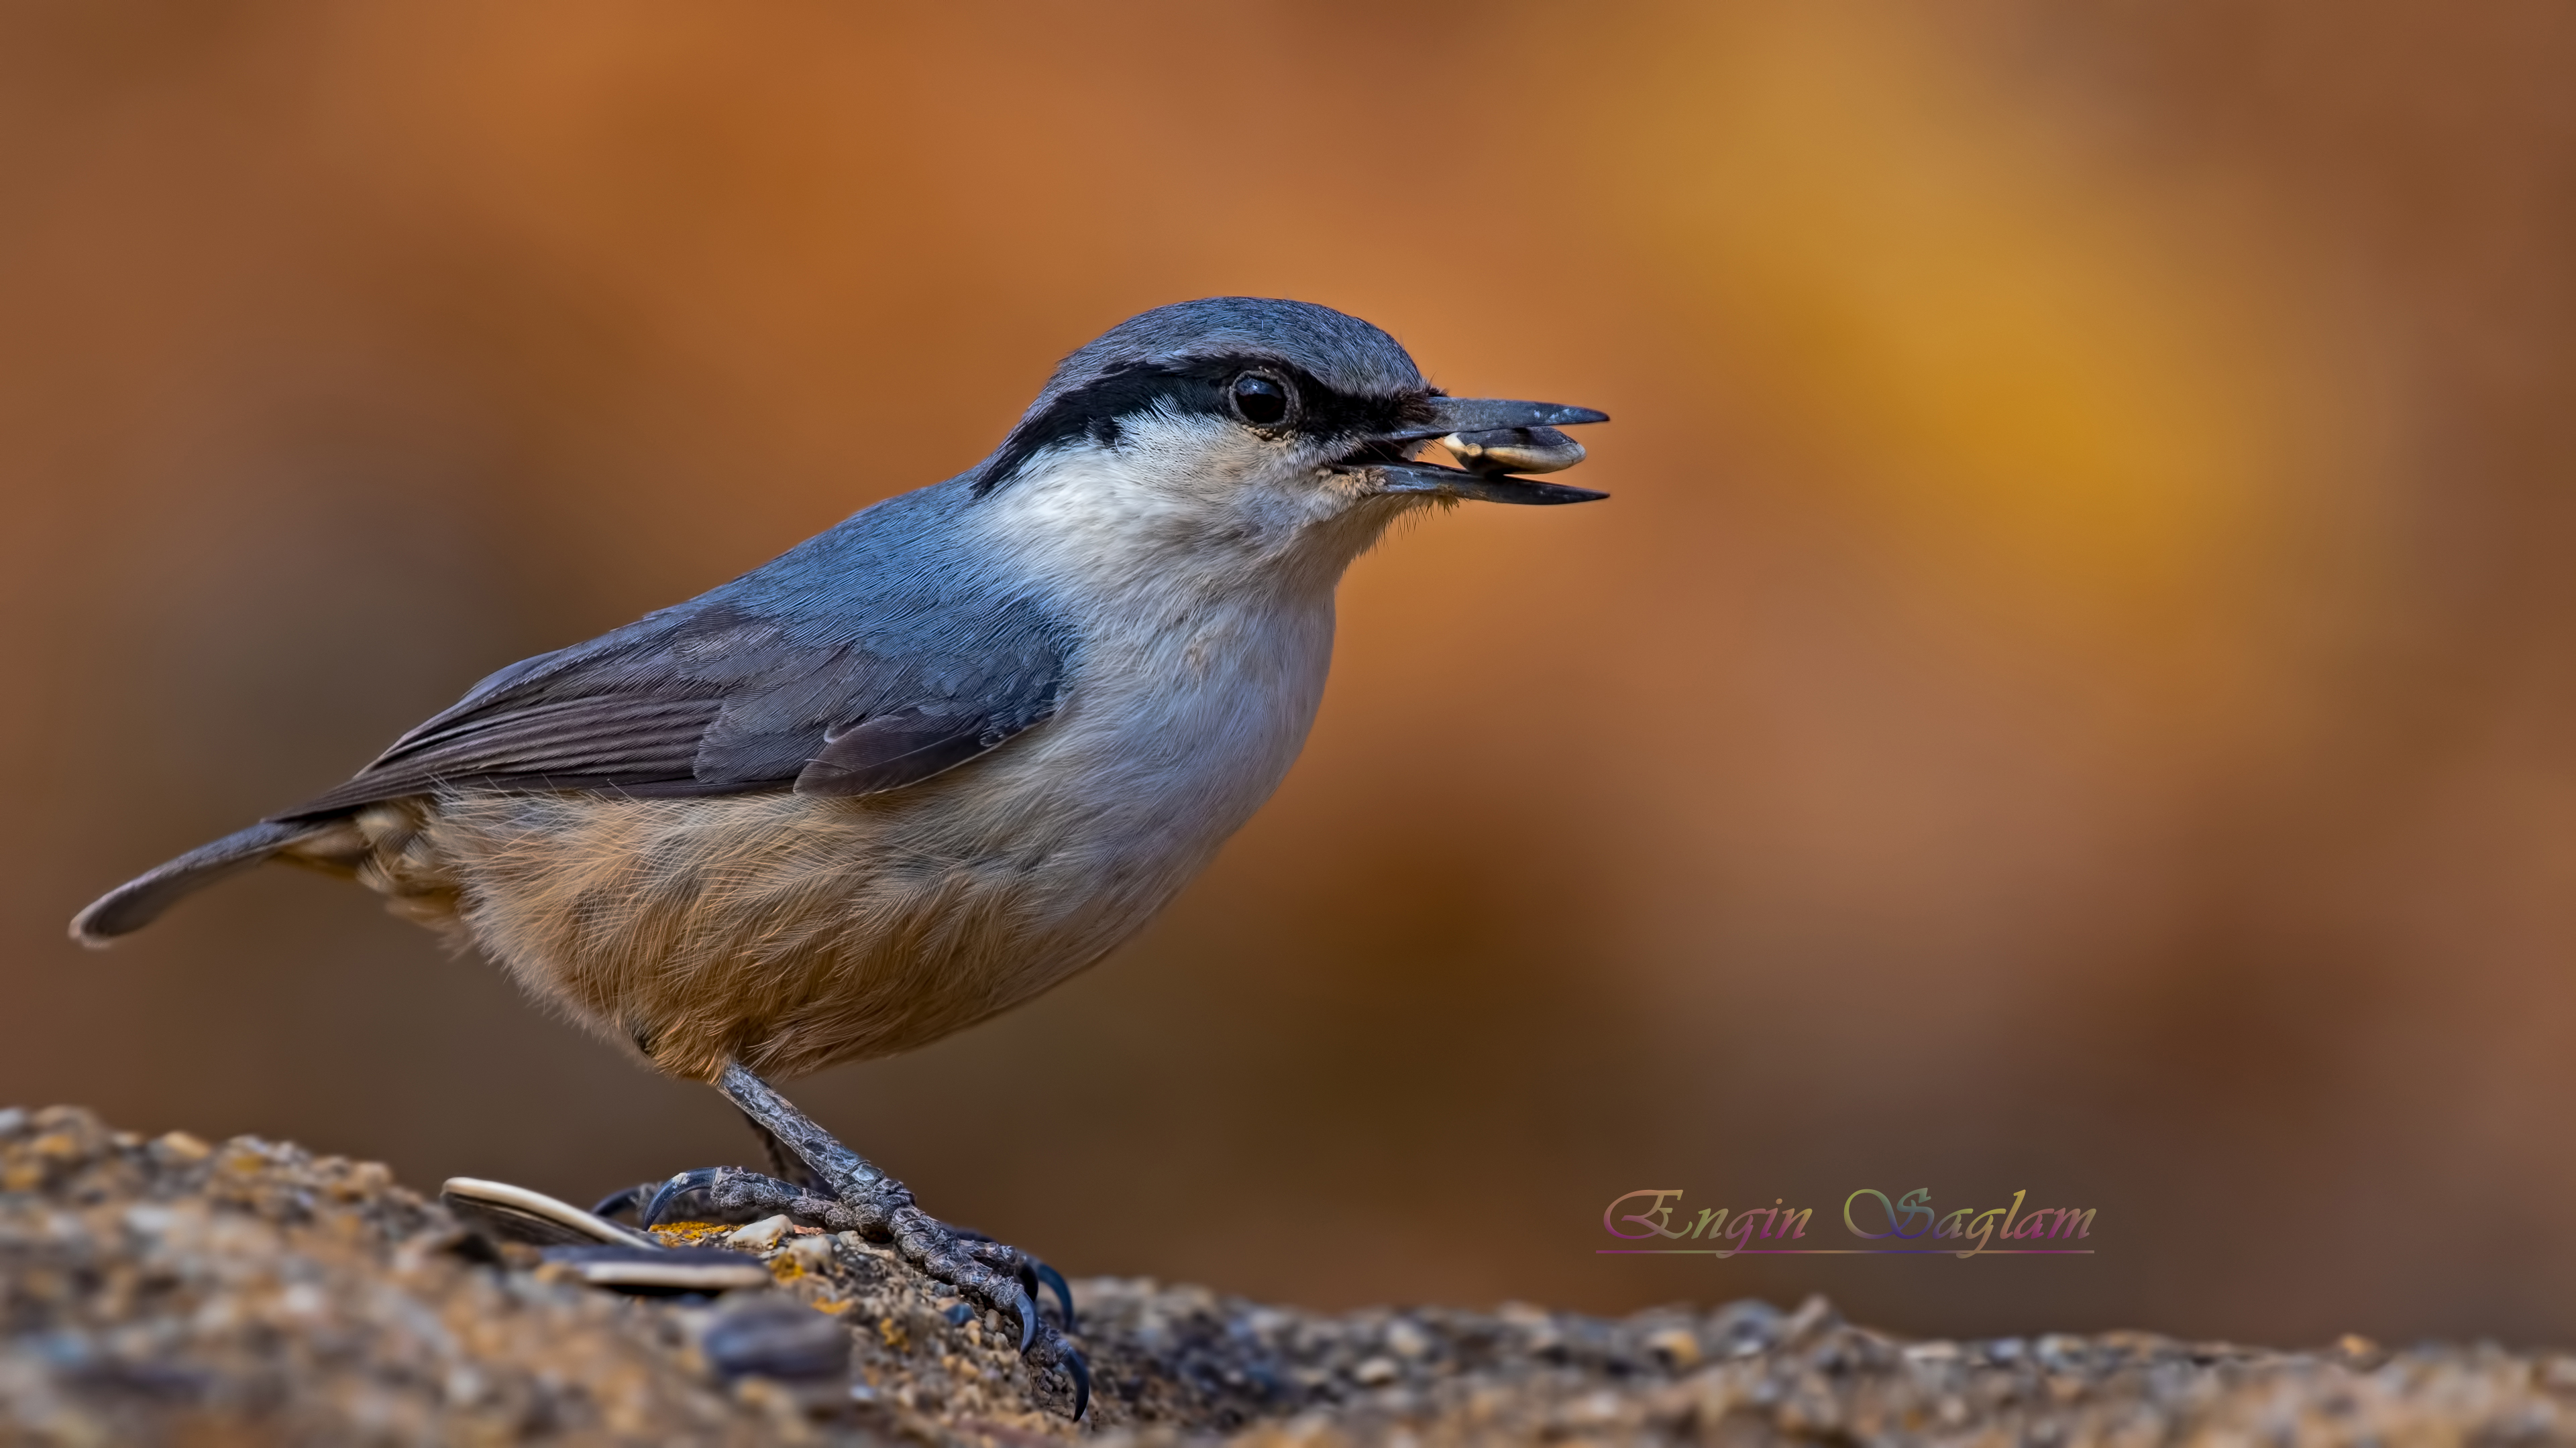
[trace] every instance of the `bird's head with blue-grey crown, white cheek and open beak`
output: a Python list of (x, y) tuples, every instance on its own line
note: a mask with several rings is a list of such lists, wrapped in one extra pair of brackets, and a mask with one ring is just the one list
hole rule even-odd
[[(1584, 453), (1556, 428), (1605, 420), (1448, 397), (1394, 338), (1329, 307), (1208, 296), (1064, 358), (974, 490), (1043, 490), (1064, 526), (1347, 562), (1427, 502), (1602, 497), (1515, 474), (1571, 466)], [(1468, 466), (1419, 461), (1432, 441)]]

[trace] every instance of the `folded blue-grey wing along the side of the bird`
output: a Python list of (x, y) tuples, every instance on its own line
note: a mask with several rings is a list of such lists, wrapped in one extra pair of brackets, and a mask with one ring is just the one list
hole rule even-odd
[(1069, 634), (1038, 603), (956, 593), (824, 608), (804, 587), (716, 590), (487, 678), (276, 819), (453, 786), (855, 796), (917, 783), (1048, 719), (1064, 685)]

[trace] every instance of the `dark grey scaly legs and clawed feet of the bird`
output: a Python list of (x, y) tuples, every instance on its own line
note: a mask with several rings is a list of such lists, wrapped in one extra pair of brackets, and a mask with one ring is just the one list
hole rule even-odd
[[(662, 1190), (641, 1211), (641, 1224), (652, 1226), (688, 1193), (701, 1193), (719, 1208), (760, 1208), (788, 1216), (824, 1232), (858, 1232), (868, 1242), (889, 1242), (894, 1250), (927, 1273), (948, 1283), (966, 1301), (981, 1309), (1005, 1311), (1020, 1324), (1020, 1358), (1033, 1373), (1061, 1373), (1074, 1391), (1074, 1417), (1092, 1396), (1090, 1368), (1082, 1353), (1038, 1317), (1036, 1288), (1046, 1283), (1064, 1306), (1064, 1324), (1074, 1322), (1074, 1299), (1064, 1278), (1018, 1247), (938, 1221), (912, 1203), (904, 1183), (876, 1170), (866, 1157), (842, 1147), (829, 1131), (770, 1090), (739, 1064), (724, 1067), (716, 1077), (724, 1092), (752, 1118), (778, 1147), (804, 1162), (814, 1185), (799, 1185), (742, 1167), (711, 1167), (680, 1172), (662, 1183)], [(819, 1190), (817, 1190), (819, 1188)]]

